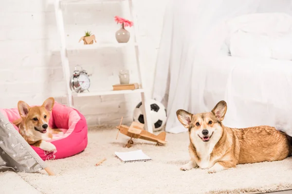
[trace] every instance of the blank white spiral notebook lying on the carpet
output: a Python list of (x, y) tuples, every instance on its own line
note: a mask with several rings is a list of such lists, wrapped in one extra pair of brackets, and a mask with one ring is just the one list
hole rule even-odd
[(136, 151), (129, 151), (129, 152), (114, 152), (114, 154), (122, 162), (145, 162), (145, 161), (152, 160), (141, 149), (136, 150)]

